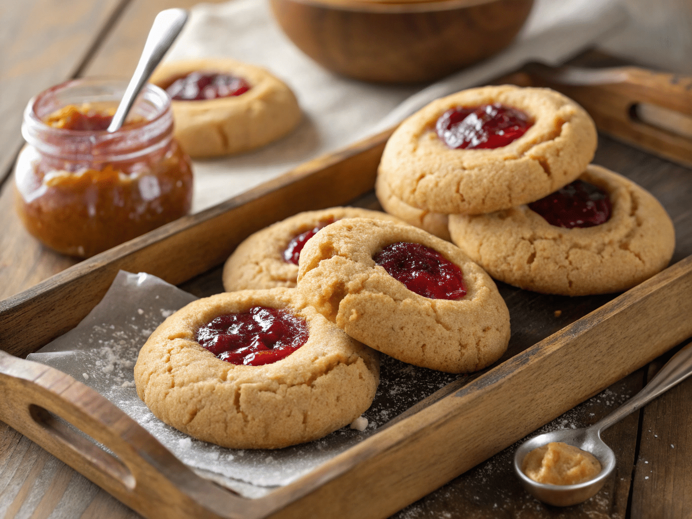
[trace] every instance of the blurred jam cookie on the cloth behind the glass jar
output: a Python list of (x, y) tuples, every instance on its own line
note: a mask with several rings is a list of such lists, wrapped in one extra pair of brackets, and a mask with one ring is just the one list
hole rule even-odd
[(165, 62), (150, 81), (170, 95), (175, 136), (192, 157), (263, 146), (289, 133), (302, 117), (284, 82), (235, 60)]

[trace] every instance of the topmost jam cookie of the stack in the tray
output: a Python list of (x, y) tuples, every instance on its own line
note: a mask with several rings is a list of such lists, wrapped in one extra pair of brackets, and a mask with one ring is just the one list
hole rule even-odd
[(480, 214), (576, 179), (596, 149), (594, 122), (550, 89), (483, 86), (435, 100), (388, 140), (379, 174), (410, 206)]

